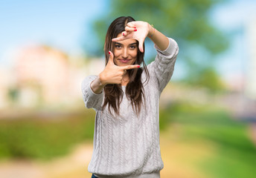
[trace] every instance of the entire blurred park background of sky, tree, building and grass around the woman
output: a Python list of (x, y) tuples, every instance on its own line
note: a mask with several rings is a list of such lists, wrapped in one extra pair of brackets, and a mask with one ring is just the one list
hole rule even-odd
[(254, 0), (2, 0), (0, 177), (91, 176), (95, 111), (80, 84), (103, 70), (118, 16), (179, 44), (161, 94), (161, 177), (255, 177), (255, 10)]

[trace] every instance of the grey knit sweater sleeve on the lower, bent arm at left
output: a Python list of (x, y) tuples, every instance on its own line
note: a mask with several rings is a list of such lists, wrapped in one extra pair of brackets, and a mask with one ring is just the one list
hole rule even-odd
[(103, 102), (103, 92), (96, 94), (92, 91), (91, 83), (97, 76), (87, 76), (82, 82), (82, 93), (83, 101), (85, 102), (86, 108), (94, 108), (100, 110)]

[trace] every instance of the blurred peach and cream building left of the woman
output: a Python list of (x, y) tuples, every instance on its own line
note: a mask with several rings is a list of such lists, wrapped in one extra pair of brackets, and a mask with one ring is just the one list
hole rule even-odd
[(0, 70), (0, 110), (82, 105), (83, 78), (104, 65), (102, 59), (68, 56), (45, 45), (22, 47), (13, 61), (13, 69)]

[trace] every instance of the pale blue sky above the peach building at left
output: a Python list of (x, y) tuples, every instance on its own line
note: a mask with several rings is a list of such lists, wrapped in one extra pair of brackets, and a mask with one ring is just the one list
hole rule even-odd
[(102, 15), (106, 2), (1, 0), (0, 62), (7, 64), (7, 56), (27, 44), (49, 44), (75, 53), (81, 48), (81, 38), (89, 36), (89, 23)]

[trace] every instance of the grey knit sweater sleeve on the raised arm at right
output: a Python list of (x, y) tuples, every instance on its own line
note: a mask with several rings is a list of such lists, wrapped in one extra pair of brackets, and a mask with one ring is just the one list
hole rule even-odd
[(155, 45), (157, 54), (155, 61), (148, 65), (150, 78), (156, 80), (160, 93), (173, 76), (176, 57), (179, 53), (178, 44), (174, 39), (169, 38), (169, 45), (166, 50), (159, 50)]

